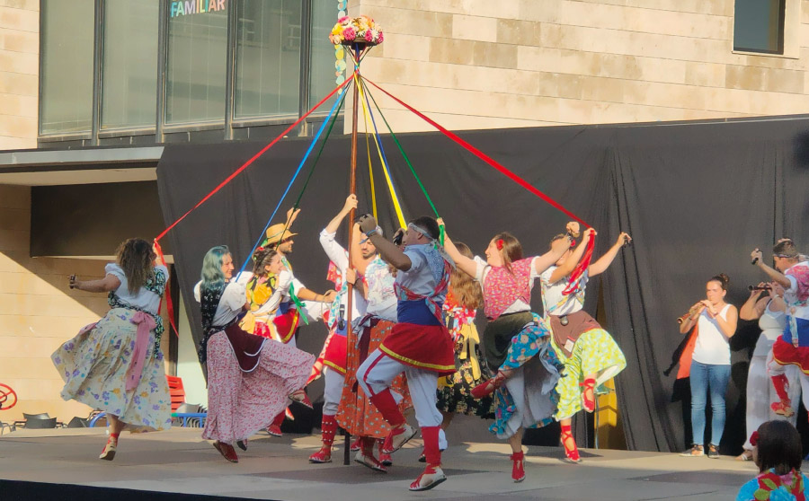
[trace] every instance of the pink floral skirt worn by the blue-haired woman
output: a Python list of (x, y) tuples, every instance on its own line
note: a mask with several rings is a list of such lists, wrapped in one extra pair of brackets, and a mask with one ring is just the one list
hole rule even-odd
[(253, 372), (239, 366), (225, 332), (208, 341), (208, 418), (202, 438), (232, 444), (270, 426), (304, 387), (315, 356), (267, 340)]

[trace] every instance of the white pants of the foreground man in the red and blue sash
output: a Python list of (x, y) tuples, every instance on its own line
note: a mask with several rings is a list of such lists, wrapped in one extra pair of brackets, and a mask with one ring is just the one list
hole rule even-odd
[(419, 426), (440, 426), (443, 417), (435, 407), (438, 373), (402, 364), (377, 349), (357, 369), (357, 382), (366, 395), (373, 396), (390, 388), (396, 376), (403, 372)]

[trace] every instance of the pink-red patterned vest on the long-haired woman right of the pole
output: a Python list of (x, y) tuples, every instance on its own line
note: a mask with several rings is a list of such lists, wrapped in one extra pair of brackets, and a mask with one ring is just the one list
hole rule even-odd
[(489, 321), (497, 320), (518, 299), (531, 303), (531, 264), (533, 258), (520, 259), (508, 269), (489, 268), (483, 286), (484, 313)]

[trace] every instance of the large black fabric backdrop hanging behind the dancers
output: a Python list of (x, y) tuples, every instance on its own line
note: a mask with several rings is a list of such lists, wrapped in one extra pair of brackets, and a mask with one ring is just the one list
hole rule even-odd
[[(687, 396), (687, 387), (683, 391), (681, 383), (675, 385), (674, 375), (663, 371), (682, 340), (674, 319), (704, 297), (707, 278), (727, 273), (731, 277), (728, 299), (741, 305), (747, 285), (761, 278), (749, 262), (754, 247), (768, 248), (783, 235), (795, 238), (799, 246), (805, 244), (809, 236), (802, 224), (809, 211), (804, 197), (809, 188), (807, 131), (807, 119), (782, 119), (459, 134), (599, 230), (596, 256), (620, 231), (635, 239), (600, 280), (591, 282), (586, 304), (595, 313), (602, 294), (604, 311), (598, 313), (627, 356), (627, 370), (616, 383), (630, 449), (675, 451), (688, 441), (689, 401), (680, 399)], [(520, 238), (528, 254), (541, 253), (550, 237), (564, 228), (565, 215), (445, 136), (406, 134), (400, 140), (446, 220), (448, 232), (473, 251), (482, 254), (494, 233), (508, 230)], [(384, 144), (405, 216), (430, 214), (407, 166), (394, 154), (396, 145), (389, 137)], [(306, 139), (289, 139), (274, 146), (169, 233), (195, 339), (200, 336), (200, 313), (191, 303), (191, 287), (199, 279), (202, 256), (210, 247), (225, 243), (237, 263), (244, 261), (307, 145)], [(261, 147), (258, 143), (166, 145), (157, 169), (166, 223)], [(358, 197), (360, 211), (369, 212), (369, 175), (363, 156), (358, 166)], [(329, 286), (327, 259), (317, 234), (348, 194), (349, 157), (348, 137), (328, 142), (294, 228), (300, 234), (290, 259), (296, 275), (316, 290)], [(273, 223), (283, 221), (310, 164), (311, 160)], [(395, 217), (378, 164), (375, 180), (380, 221), (390, 231)], [(539, 310), (538, 297), (534, 303)], [(304, 329), (298, 346), (316, 353), (324, 334), (322, 326)], [(733, 338), (725, 453), (738, 452), (743, 442), (743, 388), (757, 334), (755, 324), (742, 322)], [(581, 436), (584, 426), (578, 427)], [(479, 430), (470, 435), (479, 436)]]

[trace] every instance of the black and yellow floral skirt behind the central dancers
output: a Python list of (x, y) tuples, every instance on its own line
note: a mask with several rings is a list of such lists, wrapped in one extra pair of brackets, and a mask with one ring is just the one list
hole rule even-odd
[(458, 371), (439, 378), (436, 407), (445, 413), (493, 419), (493, 397), (477, 400), (471, 394), (473, 388), (491, 377), (488, 367), (481, 364), (483, 357), (480, 354), (480, 345), (476, 341), (478, 337), (475, 324), (463, 325), (460, 328), (460, 338), (455, 347), (455, 365)]

